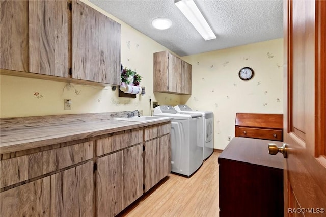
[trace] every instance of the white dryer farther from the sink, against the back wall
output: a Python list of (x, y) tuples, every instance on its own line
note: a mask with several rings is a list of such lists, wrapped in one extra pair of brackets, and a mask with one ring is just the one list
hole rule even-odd
[(202, 114), (204, 135), (203, 159), (207, 159), (213, 153), (214, 150), (214, 113), (210, 111), (193, 111), (187, 105), (177, 105), (174, 108), (178, 112)]

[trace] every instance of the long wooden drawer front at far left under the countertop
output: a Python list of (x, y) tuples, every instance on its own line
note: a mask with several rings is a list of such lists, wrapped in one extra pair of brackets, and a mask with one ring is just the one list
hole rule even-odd
[(85, 142), (0, 161), (0, 188), (47, 174), (93, 157), (93, 143)]

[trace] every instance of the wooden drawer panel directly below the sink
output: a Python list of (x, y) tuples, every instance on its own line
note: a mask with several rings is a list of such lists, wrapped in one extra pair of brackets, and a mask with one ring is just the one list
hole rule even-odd
[(101, 156), (143, 142), (143, 130), (111, 135), (96, 140), (96, 155)]

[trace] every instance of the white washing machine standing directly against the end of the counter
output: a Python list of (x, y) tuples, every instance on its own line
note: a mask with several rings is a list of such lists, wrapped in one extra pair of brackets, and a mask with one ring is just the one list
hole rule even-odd
[(190, 177), (203, 164), (203, 121), (201, 113), (180, 113), (173, 106), (154, 108), (154, 116), (171, 120), (172, 172)]

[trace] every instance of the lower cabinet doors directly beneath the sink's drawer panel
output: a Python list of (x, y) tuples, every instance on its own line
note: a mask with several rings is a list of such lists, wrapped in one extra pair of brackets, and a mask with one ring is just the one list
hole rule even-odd
[(97, 160), (97, 216), (115, 216), (143, 195), (142, 144)]

